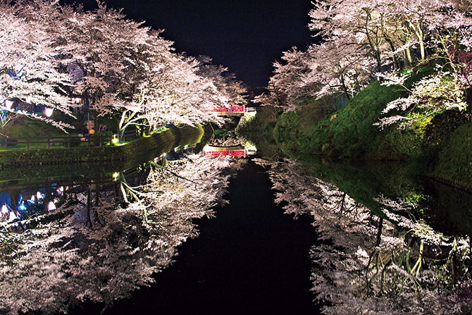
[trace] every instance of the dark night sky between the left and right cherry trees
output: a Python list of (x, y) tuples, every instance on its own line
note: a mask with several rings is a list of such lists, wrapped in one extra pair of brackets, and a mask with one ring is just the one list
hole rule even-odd
[[(63, 0), (72, 3), (72, 0)], [(94, 0), (77, 0), (85, 9)], [(265, 86), (272, 63), (282, 51), (311, 41), (308, 13), (311, 0), (108, 0), (108, 6), (124, 8), (133, 20), (145, 20), (162, 36), (175, 42), (178, 51), (206, 55), (228, 67), (238, 80), (253, 87)]]

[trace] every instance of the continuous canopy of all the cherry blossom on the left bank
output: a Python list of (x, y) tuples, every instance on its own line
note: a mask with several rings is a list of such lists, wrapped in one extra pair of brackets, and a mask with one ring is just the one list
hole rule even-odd
[(94, 11), (54, 0), (1, 6), (2, 102), (29, 97), (68, 113), (69, 95), (82, 94), (95, 113), (120, 116), (121, 132), (131, 125), (152, 132), (166, 123), (221, 121), (213, 106), (244, 99), (225, 68), (202, 72), (195, 58), (175, 54), (161, 31), (100, 1)]

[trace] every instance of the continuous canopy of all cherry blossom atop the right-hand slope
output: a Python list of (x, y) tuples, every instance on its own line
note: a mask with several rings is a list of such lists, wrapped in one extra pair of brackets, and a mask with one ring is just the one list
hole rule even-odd
[[(342, 92), (349, 99), (375, 76), (403, 85), (412, 67), (440, 65), (435, 75), (404, 89), (377, 125), (423, 123), (447, 109), (472, 111), (470, 1), (328, 0), (313, 3), (309, 27), (320, 44), (286, 51), (274, 63), (269, 89), (299, 101)], [(272, 98), (277, 99), (277, 98)], [(270, 101), (268, 99), (267, 101)], [(395, 115), (392, 113), (396, 111)]]

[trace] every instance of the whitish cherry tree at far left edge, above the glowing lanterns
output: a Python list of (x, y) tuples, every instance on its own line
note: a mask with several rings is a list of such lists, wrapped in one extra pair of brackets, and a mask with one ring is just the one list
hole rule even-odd
[[(22, 1), (16, 4), (0, 2), (0, 103), (17, 97), (69, 113), (67, 91), (73, 85), (70, 75), (61, 70), (66, 62), (66, 57), (61, 55), (64, 44), (44, 22), (54, 18), (56, 13), (51, 9), (47, 11), (51, 14), (48, 19), (42, 19), (40, 15), (32, 18), (27, 14), (30, 7)], [(46, 6), (44, 10), (48, 8)], [(60, 128), (70, 127), (34, 113), (22, 113)]]

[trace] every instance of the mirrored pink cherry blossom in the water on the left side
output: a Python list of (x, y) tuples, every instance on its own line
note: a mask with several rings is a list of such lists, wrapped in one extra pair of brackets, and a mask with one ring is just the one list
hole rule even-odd
[(149, 285), (176, 247), (197, 235), (192, 219), (224, 203), (229, 175), (242, 163), (196, 154), (151, 163), (145, 183), (118, 175), (127, 180), (63, 194), (56, 210), (25, 222), (35, 228), (1, 230), (0, 313), (109, 304)]

